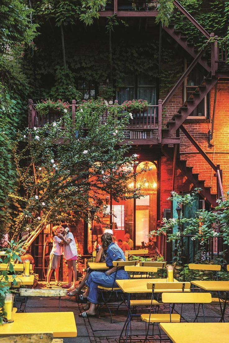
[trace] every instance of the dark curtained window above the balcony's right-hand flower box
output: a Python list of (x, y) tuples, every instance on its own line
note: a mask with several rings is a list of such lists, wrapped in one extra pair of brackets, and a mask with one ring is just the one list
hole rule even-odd
[(149, 104), (156, 104), (156, 79), (150, 75), (128, 74), (121, 80), (122, 86), (118, 88), (116, 98), (119, 104), (126, 100), (143, 99)]

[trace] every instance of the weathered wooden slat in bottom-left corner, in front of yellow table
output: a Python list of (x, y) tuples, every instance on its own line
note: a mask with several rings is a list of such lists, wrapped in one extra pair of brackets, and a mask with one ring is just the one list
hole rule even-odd
[(1, 337), (1, 343), (63, 343), (62, 338), (53, 338), (51, 333), (13, 335)]

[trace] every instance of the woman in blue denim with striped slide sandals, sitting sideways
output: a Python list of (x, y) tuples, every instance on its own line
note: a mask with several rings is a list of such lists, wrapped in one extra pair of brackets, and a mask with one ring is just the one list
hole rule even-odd
[(109, 268), (105, 273), (93, 271), (89, 274), (86, 285), (89, 287), (89, 294), (84, 301), (90, 301), (89, 310), (82, 312), (79, 317), (88, 318), (95, 317), (96, 304), (99, 301), (100, 289), (99, 285), (104, 287), (117, 287), (115, 280), (126, 280), (128, 274), (124, 267), (113, 267), (113, 261), (125, 261), (125, 255), (114, 242), (113, 237), (109, 233), (104, 233), (101, 237), (102, 248), (106, 253), (106, 265)]

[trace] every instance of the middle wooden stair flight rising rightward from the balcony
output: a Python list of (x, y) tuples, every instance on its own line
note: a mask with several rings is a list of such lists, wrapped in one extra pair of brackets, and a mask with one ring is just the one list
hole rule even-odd
[(178, 112), (167, 122), (167, 129), (162, 130), (163, 138), (170, 138), (176, 130), (183, 124), (185, 119), (192, 113), (196, 106), (204, 99), (211, 88), (217, 83), (218, 79), (215, 77), (205, 78), (201, 85), (199, 85), (188, 98)]

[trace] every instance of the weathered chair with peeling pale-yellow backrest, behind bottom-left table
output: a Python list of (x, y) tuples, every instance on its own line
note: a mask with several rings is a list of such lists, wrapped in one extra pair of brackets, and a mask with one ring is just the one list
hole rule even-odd
[(59, 312), (60, 312), (60, 298), (65, 297), (67, 290), (63, 288), (57, 289), (30, 289), (21, 288), (20, 296), (25, 297), (25, 312), (28, 297), (58, 297), (59, 298)]

